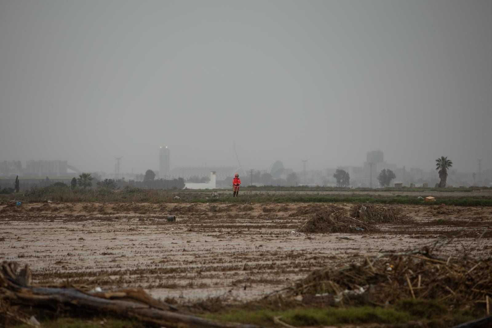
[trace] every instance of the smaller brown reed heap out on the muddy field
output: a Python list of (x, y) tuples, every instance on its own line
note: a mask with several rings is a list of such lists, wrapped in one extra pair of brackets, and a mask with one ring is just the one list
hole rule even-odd
[(355, 232), (373, 230), (375, 224), (401, 223), (408, 220), (397, 207), (356, 204), (349, 209), (326, 206), (304, 210), (311, 217), (301, 232)]

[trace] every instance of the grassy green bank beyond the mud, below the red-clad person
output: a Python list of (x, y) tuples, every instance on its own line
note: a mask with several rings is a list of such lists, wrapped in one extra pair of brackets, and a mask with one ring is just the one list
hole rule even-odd
[[(220, 191), (219, 191), (220, 194)], [(423, 193), (423, 195), (428, 195)], [(179, 198), (175, 198), (178, 196)], [(472, 196), (472, 194), (470, 194)], [(220, 198), (210, 198), (210, 191), (168, 191), (156, 189), (125, 188), (113, 191), (103, 188), (75, 189), (68, 187), (49, 186), (35, 188), (24, 193), (18, 193), (0, 198), (0, 204), (10, 200), (21, 202), (217, 202), (217, 203), (383, 203), (383, 204), (441, 204), (455, 206), (492, 206), (492, 197), (473, 195), (474, 197), (447, 197), (438, 198), (436, 202), (424, 202), (415, 196), (397, 195), (395, 197), (379, 195), (350, 195), (331, 196), (319, 194), (300, 194), (297, 192), (262, 193), (257, 194), (244, 191), (240, 197), (232, 197), (230, 194), (221, 194)]]

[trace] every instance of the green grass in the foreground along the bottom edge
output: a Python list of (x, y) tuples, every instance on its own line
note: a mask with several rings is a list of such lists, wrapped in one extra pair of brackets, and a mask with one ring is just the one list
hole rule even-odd
[[(294, 308), (287, 310), (242, 309), (233, 308), (217, 313), (202, 315), (205, 318), (222, 321), (254, 324), (263, 327), (279, 327), (274, 317), (280, 317), (284, 323), (295, 327), (306, 326), (339, 326), (345, 324), (389, 324), (398, 327), (433, 327), (444, 328), (477, 319), (481, 315), (473, 315), (469, 310), (450, 310), (447, 304), (437, 300), (406, 299), (390, 308), (382, 307), (323, 307)], [(143, 328), (145, 324), (138, 320), (80, 319), (60, 318), (42, 322), (45, 328), (96, 328), (104, 321), (106, 328)], [(416, 322), (419, 322), (416, 325)], [(15, 328), (27, 328), (27, 325)]]

